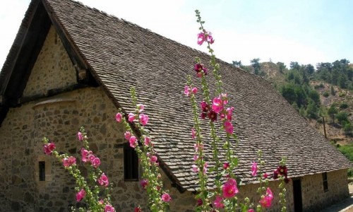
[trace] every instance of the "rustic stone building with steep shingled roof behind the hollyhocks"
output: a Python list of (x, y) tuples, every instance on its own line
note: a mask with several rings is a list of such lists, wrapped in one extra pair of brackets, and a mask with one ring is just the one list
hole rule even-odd
[[(148, 129), (173, 199), (171, 211), (191, 211), (197, 176), (191, 171), (191, 105), (183, 91), (196, 56), (204, 63), (210, 59), (76, 1), (32, 0), (0, 75), (1, 211), (69, 211), (77, 204), (73, 178), (42, 153), (42, 138), (78, 157), (80, 126), (114, 183), (117, 211), (143, 205), (138, 161), (126, 146), (124, 127), (114, 122), (118, 108), (133, 110), (131, 86), (147, 105)], [(218, 62), (229, 105), (235, 108), (236, 172), (243, 180), (239, 195), (258, 201), (250, 167), (261, 149), (266, 172), (282, 156), (288, 158), (289, 211), (317, 211), (348, 197), (349, 161), (270, 83)], [(209, 78), (213, 84), (211, 74)], [(270, 182), (275, 194), (277, 185)], [(271, 210), (278, 211), (279, 204)]]

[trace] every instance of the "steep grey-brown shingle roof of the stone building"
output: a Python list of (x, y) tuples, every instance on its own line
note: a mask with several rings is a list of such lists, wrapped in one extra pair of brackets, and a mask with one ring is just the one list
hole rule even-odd
[[(208, 55), (76, 1), (42, 0), (38, 4), (44, 5), (81, 66), (86, 66), (126, 112), (133, 110), (129, 89), (136, 87), (138, 100), (147, 105), (150, 134), (164, 170), (182, 189), (196, 189), (197, 176), (191, 171), (191, 105), (183, 92), (188, 74), (200, 88), (193, 73), (193, 59), (199, 56), (207, 63)], [(6, 64), (9, 61), (11, 55)], [(350, 167), (349, 161), (309, 126), (270, 83), (224, 61), (219, 63), (229, 105), (235, 108), (233, 125), (239, 145), (234, 151), (241, 161), (237, 173), (245, 182), (253, 180), (250, 167), (251, 161), (257, 160), (258, 149), (263, 151), (268, 172), (287, 155), (289, 177)], [(11, 72), (6, 64), (1, 71), (3, 79)], [(211, 74), (208, 79), (213, 85)]]

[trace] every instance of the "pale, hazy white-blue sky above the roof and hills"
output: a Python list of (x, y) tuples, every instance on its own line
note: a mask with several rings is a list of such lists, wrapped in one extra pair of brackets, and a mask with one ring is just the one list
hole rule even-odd
[[(353, 63), (353, 1), (81, 0), (149, 28), (184, 45), (198, 47), (194, 10), (215, 38), (215, 54), (228, 62), (290, 61), (299, 64), (348, 59)], [(0, 8), (0, 66), (30, 0), (6, 1)]]

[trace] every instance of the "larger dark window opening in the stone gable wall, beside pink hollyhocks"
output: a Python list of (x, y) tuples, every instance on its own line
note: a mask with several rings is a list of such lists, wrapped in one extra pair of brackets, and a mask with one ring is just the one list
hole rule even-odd
[(135, 149), (124, 146), (124, 179), (138, 181), (138, 155)]

